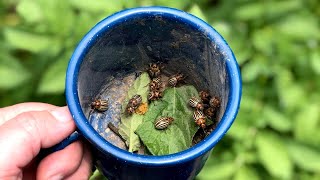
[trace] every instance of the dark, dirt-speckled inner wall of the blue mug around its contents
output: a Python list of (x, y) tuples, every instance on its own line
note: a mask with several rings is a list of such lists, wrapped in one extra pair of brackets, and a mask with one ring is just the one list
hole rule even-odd
[[(78, 75), (82, 110), (97, 132), (108, 139), (107, 123), (120, 120), (121, 98), (134, 74), (146, 71), (150, 63), (161, 63), (163, 73), (182, 73), (198, 91), (208, 90), (221, 99), (218, 119), (228, 102), (226, 57), (214, 39), (186, 20), (164, 15), (139, 15), (105, 28), (88, 48)], [(96, 98), (109, 100), (114, 110), (92, 113)], [(113, 139), (108, 139), (113, 141)]]

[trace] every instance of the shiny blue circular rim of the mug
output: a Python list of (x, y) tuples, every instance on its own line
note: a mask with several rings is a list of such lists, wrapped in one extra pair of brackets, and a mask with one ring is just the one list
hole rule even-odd
[[(163, 156), (147, 156), (130, 153), (106, 141), (90, 125), (87, 118), (83, 114), (77, 91), (77, 78), (82, 60), (84, 59), (86, 51), (94, 44), (96, 38), (98, 38), (98, 36), (104, 31), (112, 28), (116, 23), (123, 22), (128, 18), (132, 18), (134, 16), (138, 17), (143, 14), (156, 14), (177, 18), (182, 22), (198, 28), (202, 32), (205, 32), (207, 36), (210, 39), (214, 40), (218, 44), (219, 48), (225, 52), (224, 55), (226, 56), (226, 70), (229, 74), (230, 91), (228, 95), (228, 103), (225, 113), (220, 120), (217, 128), (207, 138), (205, 138), (198, 144), (184, 151)], [(168, 7), (152, 6), (122, 10), (103, 19), (89, 31), (80, 41), (69, 61), (66, 74), (65, 93), (68, 108), (77, 125), (77, 128), (79, 129), (80, 133), (97, 149), (105, 154), (111, 154), (119, 160), (132, 164), (139, 164), (141, 166), (170, 166), (185, 163), (197, 157), (200, 157), (201, 155), (210, 151), (218, 143), (218, 141), (228, 131), (238, 113), (241, 91), (241, 75), (236, 58), (227, 42), (213, 27), (208, 25), (203, 20), (184, 11)]]

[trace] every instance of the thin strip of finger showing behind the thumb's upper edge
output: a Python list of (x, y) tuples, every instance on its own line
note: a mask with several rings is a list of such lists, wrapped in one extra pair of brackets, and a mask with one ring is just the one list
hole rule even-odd
[(46, 103), (38, 103), (38, 102), (27, 102), (20, 103), (4, 108), (0, 108), (0, 126), (8, 121), (16, 117), (17, 115), (28, 112), (28, 111), (43, 111), (43, 110), (51, 110), (57, 108), (57, 106), (46, 104)]

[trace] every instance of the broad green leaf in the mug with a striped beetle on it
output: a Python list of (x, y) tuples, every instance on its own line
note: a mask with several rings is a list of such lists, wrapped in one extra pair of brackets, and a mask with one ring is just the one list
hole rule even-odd
[[(161, 100), (150, 104), (136, 133), (153, 155), (172, 154), (191, 147), (192, 137), (199, 128), (192, 117), (194, 109), (188, 106), (192, 96), (198, 96), (193, 86), (170, 88), (164, 91)], [(154, 121), (163, 116), (173, 117), (174, 121), (167, 129), (155, 129)]]

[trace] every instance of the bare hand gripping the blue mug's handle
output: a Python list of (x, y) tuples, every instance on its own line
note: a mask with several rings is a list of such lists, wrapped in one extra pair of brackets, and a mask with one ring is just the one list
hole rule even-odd
[(67, 107), (22, 103), (0, 108), (0, 179), (89, 179), (92, 159), (81, 141), (37, 156), (76, 126)]

